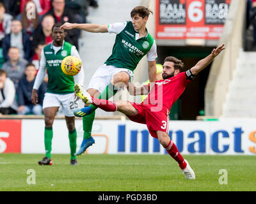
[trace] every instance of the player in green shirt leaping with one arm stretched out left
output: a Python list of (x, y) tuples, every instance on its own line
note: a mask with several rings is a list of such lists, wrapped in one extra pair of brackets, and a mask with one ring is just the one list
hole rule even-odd
[[(81, 29), (91, 33), (115, 33), (115, 45), (112, 54), (104, 65), (100, 66), (90, 81), (87, 92), (101, 99), (109, 99), (120, 87), (124, 88), (132, 81), (133, 71), (138, 62), (147, 55), (148, 78), (150, 82), (156, 79), (156, 42), (148, 33), (146, 24), (152, 13), (145, 6), (136, 6), (131, 11), (131, 21), (108, 25), (70, 24), (66, 22), (63, 29)], [(82, 154), (95, 143), (92, 138), (92, 124), (96, 107), (86, 106), (74, 111), (77, 117), (83, 117), (84, 139), (77, 155)]]

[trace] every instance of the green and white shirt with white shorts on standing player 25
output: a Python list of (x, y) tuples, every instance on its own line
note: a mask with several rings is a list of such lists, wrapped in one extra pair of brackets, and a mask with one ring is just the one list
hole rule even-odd
[(60, 107), (62, 112), (73, 117), (73, 110), (78, 108), (74, 98), (74, 84), (84, 83), (83, 66), (75, 76), (68, 76), (61, 71), (61, 61), (68, 55), (80, 58), (76, 47), (63, 41), (61, 47), (55, 47), (53, 43), (44, 47), (41, 52), (40, 69), (36, 75), (33, 89), (38, 89), (44, 80), (45, 71), (48, 74), (47, 91), (44, 96), (43, 109), (47, 107)]

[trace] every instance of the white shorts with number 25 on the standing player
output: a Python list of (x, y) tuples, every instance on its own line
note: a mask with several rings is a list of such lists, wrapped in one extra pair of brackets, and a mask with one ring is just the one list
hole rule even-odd
[(48, 107), (61, 107), (62, 112), (67, 117), (74, 117), (73, 110), (82, 108), (78, 101), (75, 101), (75, 94), (44, 94), (43, 109)]

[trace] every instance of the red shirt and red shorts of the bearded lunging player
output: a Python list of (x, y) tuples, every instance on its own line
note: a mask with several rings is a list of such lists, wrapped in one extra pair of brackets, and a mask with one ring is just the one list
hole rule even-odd
[[(138, 114), (127, 117), (134, 122), (147, 124), (148, 131), (154, 138), (157, 138), (156, 131), (168, 133), (170, 109), (193, 79), (189, 76), (191, 72), (188, 70), (166, 80), (157, 80), (142, 103), (130, 102), (138, 110)], [(149, 90), (150, 84), (147, 86)]]

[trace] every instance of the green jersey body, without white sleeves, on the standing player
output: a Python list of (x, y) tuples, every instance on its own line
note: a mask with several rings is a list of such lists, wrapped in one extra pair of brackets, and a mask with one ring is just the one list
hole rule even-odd
[(62, 60), (71, 54), (71, 45), (63, 43), (63, 47), (54, 54), (52, 44), (44, 47), (46, 67), (48, 74), (47, 91), (52, 94), (69, 94), (74, 92), (74, 77), (65, 75), (61, 70)]

